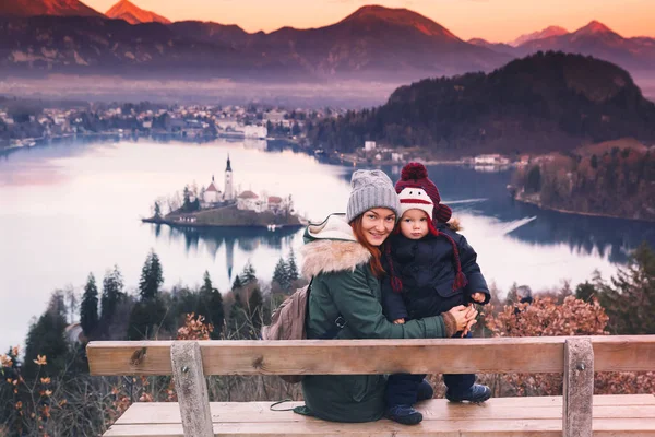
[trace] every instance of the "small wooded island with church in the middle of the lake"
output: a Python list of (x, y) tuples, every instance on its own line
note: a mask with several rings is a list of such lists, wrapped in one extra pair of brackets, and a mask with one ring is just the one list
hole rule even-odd
[(142, 221), (177, 227), (265, 227), (269, 231), (307, 225), (307, 220), (294, 210), (290, 196), (258, 196), (251, 190), (237, 193), (229, 155), (223, 191), (212, 177), (210, 186), (198, 193), (186, 187), (182, 204), (174, 203), (167, 214), (162, 213), (160, 202), (155, 202), (153, 216)]

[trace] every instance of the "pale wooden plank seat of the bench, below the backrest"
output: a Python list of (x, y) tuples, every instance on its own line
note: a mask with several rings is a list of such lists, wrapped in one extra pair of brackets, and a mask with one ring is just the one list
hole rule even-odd
[[(287, 403), (289, 408), (301, 402)], [(212, 402), (216, 436), (561, 436), (562, 398), (496, 398), (483, 405), (442, 399), (417, 404), (424, 422), (407, 427), (382, 420), (338, 424), (274, 412), (271, 402)], [(655, 395), (594, 397), (594, 435), (655, 436)], [(177, 403), (135, 403), (105, 434), (107, 437), (183, 436)]]

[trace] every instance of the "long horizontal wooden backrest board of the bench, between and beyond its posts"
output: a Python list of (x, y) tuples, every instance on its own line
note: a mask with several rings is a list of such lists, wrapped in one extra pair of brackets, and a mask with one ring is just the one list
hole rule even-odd
[[(563, 373), (568, 338), (201, 341), (204, 375)], [(577, 339), (577, 338), (569, 338)], [(596, 371), (655, 369), (655, 335), (588, 336)], [(92, 375), (171, 375), (170, 341), (91, 342)]]

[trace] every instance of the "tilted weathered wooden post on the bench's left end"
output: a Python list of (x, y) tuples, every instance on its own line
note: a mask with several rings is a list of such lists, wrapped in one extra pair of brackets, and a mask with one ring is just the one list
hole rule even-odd
[(214, 437), (200, 344), (191, 341), (174, 342), (170, 359), (184, 437)]

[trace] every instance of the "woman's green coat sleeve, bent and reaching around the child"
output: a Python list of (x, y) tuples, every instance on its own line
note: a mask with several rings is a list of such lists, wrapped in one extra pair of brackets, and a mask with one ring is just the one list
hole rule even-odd
[(325, 285), (341, 316), (358, 339), (441, 339), (445, 326), (441, 316), (394, 324), (382, 314), (379, 298), (370, 290), (362, 269), (326, 275)]

